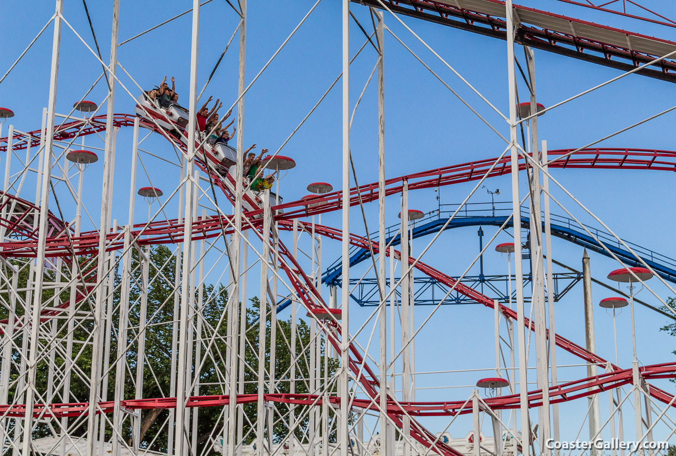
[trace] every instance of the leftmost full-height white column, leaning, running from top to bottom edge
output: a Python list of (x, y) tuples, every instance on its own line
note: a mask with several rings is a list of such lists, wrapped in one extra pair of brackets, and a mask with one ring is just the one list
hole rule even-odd
[[(28, 360), (28, 390), (26, 391), (26, 410), (32, 411), (35, 394), (35, 378), (37, 375), (37, 356), (38, 356), (38, 331), (40, 326), (40, 306), (42, 303), (43, 290), (43, 275), (45, 273), (45, 244), (47, 241), (47, 214), (49, 203), (49, 182), (51, 178), (51, 148), (54, 139), (54, 116), (56, 112), (56, 90), (57, 80), (59, 75), (59, 49), (61, 44), (61, 14), (64, 8), (63, 0), (56, 0), (56, 14), (54, 16), (54, 36), (51, 48), (51, 70), (49, 73), (49, 102), (47, 113), (47, 134), (45, 141), (45, 166), (44, 178), (41, 188), (41, 204), (40, 204), (40, 226), (38, 232), (38, 249), (36, 258), (37, 277), (32, 309), (30, 311), (31, 327), (30, 327), (30, 352)], [(30, 278), (29, 278), (30, 280)], [(28, 304), (28, 296), (26, 296), (26, 305)], [(24, 325), (24, 327), (27, 325)], [(24, 332), (24, 336), (26, 332)], [(25, 345), (24, 345), (25, 346)], [(25, 357), (22, 357), (25, 359)], [(16, 432), (16, 431), (15, 431)], [(22, 454), (28, 455), (30, 453), (30, 434), (32, 432), (32, 413), (26, 413), (24, 418), (23, 430), (23, 446)], [(19, 434), (15, 434), (16, 436)], [(345, 455), (343, 455), (345, 456)]]

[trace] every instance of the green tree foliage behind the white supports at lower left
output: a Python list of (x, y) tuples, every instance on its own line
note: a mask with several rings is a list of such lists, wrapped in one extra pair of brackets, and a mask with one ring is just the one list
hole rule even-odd
[[(159, 398), (170, 397), (172, 386), (172, 370), (176, 367), (172, 365), (172, 340), (175, 340), (174, 321), (178, 320), (180, 303), (180, 288), (174, 290), (174, 278), (176, 275), (176, 256), (172, 251), (164, 246), (158, 245), (152, 247), (147, 252), (151, 259), (151, 266), (147, 272), (147, 286), (143, 286), (143, 272), (141, 268), (141, 257), (139, 252), (134, 249), (132, 253), (132, 276), (134, 280), (130, 282), (129, 290), (129, 310), (128, 310), (128, 338), (126, 340), (126, 360), (128, 369), (125, 372), (124, 379), (124, 398), (134, 399), (137, 388), (135, 386), (137, 376), (137, 351), (139, 349), (139, 328), (141, 327), (141, 313), (140, 303), (143, 294), (143, 288), (147, 290), (146, 299), (146, 327), (145, 327), (145, 362), (143, 368), (143, 398)], [(89, 264), (87, 265), (87, 261)], [(95, 265), (91, 264), (92, 257), (82, 257), (80, 259), (81, 270), (84, 272), (95, 271)], [(17, 261), (17, 265), (21, 265), (18, 275), (18, 288), (21, 291), (18, 295), (20, 299), (30, 299), (26, 297), (25, 291), (28, 284), (28, 270), (30, 261)], [(70, 277), (70, 262), (64, 261), (62, 265), (64, 270), (64, 277)], [(112, 290), (111, 299), (104, 299), (106, 303), (112, 305), (112, 309), (107, 309), (110, 313), (111, 320), (111, 338), (107, 341), (110, 347), (110, 368), (106, 371), (107, 379), (107, 398), (111, 399), (114, 394), (115, 368), (114, 361), (118, 354), (118, 323), (119, 323), (119, 307), (120, 307), (120, 270), (121, 265), (117, 265), (114, 276), (114, 290)], [(5, 274), (11, 277), (13, 274), (5, 266)], [(93, 274), (90, 272), (90, 274)], [(178, 268), (180, 274), (180, 263)], [(86, 278), (91, 275), (86, 276)], [(57, 274), (55, 270), (47, 270), (45, 272), (45, 282), (55, 282)], [(62, 280), (66, 280), (62, 278)], [(180, 283), (180, 277), (178, 280)], [(45, 288), (43, 291), (43, 303), (49, 303), (49, 307), (57, 307), (60, 303), (67, 303), (70, 299), (70, 288), (65, 288), (60, 291), (58, 300), (54, 300), (54, 288)], [(30, 295), (30, 293), (28, 293)], [(0, 299), (3, 306), (0, 306), (0, 318), (7, 318), (7, 308), (9, 307), (9, 294), (7, 288), (0, 290)], [(199, 290), (195, 291), (195, 302), (199, 302)], [(94, 296), (89, 300), (85, 300), (81, 304), (81, 313), (90, 312), (93, 307)], [(201, 368), (199, 368), (199, 395), (224, 395), (226, 390), (224, 384), (228, 381), (228, 374), (226, 372), (226, 353), (228, 351), (226, 345), (226, 336), (228, 328), (228, 315), (226, 308), (228, 305), (228, 293), (222, 284), (205, 284), (202, 290), (203, 308), (201, 309), (201, 335), (197, 334), (197, 317), (193, 318), (193, 333), (194, 338), (201, 338)], [(21, 318), (23, 315), (22, 306), (17, 306), (17, 317)], [(269, 311), (268, 303), (268, 311)], [(248, 342), (245, 345), (245, 369), (244, 369), (244, 394), (256, 394), (258, 392), (258, 341), (259, 329), (258, 318), (260, 315), (260, 302), (258, 298), (254, 297), (247, 303), (246, 311), (246, 334)], [(68, 330), (65, 319), (51, 320), (55, 323), (55, 332), (58, 337), (64, 338)], [(43, 322), (45, 324), (52, 324), (51, 321)], [(71, 396), (69, 402), (87, 402), (89, 400), (89, 378), (91, 374), (91, 331), (93, 330), (93, 320), (91, 318), (76, 318), (75, 328), (73, 331), (73, 359), (74, 370), (72, 374), (70, 392)], [(238, 316), (238, 327), (239, 327)], [(241, 330), (241, 328), (239, 328)], [(266, 319), (266, 372), (270, 363), (270, 318)], [(19, 373), (20, 365), (20, 347), (22, 347), (23, 336), (22, 332), (14, 338), (16, 347), (13, 351), (15, 363), (11, 369), (11, 379), (16, 380)], [(291, 353), (291, 319), (278, 320), (276, 328), (276, 359), (274, 365), (275, 378), (277, 387), (272, 392), (288, 393), (290, 392), (290, 366), (293, 359), (299, 360), (297, 364), (296, 378), (309, 378), (309, 366), (306, 360), (310, 359), (309, 354), (310, 343), (310, 327), (299, 320), (297, 322), (297, 344), (295, 353)], [(64, 347), (64, 344), (59, 344), (59, 350)], [(178, 347), (180, 350), (180, 347)], [(323, 373), (323, 353), (326, 347), (322, 343), (321, 346), (321, 361), (318, 362), (318, 372)], [(189, 353), (190, 363), (193, 367), (191, 380), (194, 381), (195, 376), (195, 343), (193, 349)], [(59, 351), (55, 356), (55, 363), (57, 368), (62, 370), (62, 359), (64, 353)], [(329, 379), (333, 378), (338, 366), (338, 361), (329, 359), (327, 366), (329, 372)], [(199, 366), (198, 366), (199, 367)], [(44, 394), (47, 391), (47, 383), (49, 382), (49, 366), (47, 362), (41, 362), (38, 365), (37, 375), (38, 390)], [(54, 385), (57, 386), (57, 394), (51, 402), (63, 402), (62, 395), (62, 381), (60, 379), (52, 379)], [(269, 378), (266, 374), (265, 392), (268, 392)], [(16, 393), (16, 382), (10, 391), (11, 402)], [(335, 388), (333, 388), (335, 390)], [(297, 380), (295, 382), (295, 392), (306, 393), (312, 392), (308, 388), (306, 381)], [(194, 390), (193, 390), (194, 394)], [(20, 399), (20, 398), (19, 398)], [(22, 403), (23, 400), (18, 400)], [(38, 399), (41, 402), (41, 399)], [(277, 409), (283, 415), (287, 415), (288, 407), (285, 404), (278, 404)], [(250, 429), (250, 423), (256, 423), (257, 406), (256, 403), (249, 403), (243, 405), (243, 411), (246, 418), (243, 420), (244, 435)], [(296, 415), (300, 417), (301, 413), (305, 411), (302, 407), (297, 407)], [(190, 413), (197, 413), (199, 419), (197, 420), (197, 442), (199, 447), (199, 454), (202, 453), (202, 448), (205, 445), (212, 445), (210, 437), (218, 438), (222, 434), (224, 424), (223, 407), (199, 407), (190, 409)], [(112, 419), (112, 415), (109, 415)], [(166, 451), (166, 443), (168, 440), (168, 420), (170, 419), (170, 410), (168, 409), (145, 409), (141, 411), (141, 443), (142, 448), (149, 448), (153, 451)], [(285, 422), (278, 422), (274, 426), (273, 440), (281, 440), (288, 432), (288, 415)], [(296, 420), (298, 421), (298, 419)], [(286, 423), (286, 424), (285, 424)], [(300, 420), (300, 424), (295, 431), (298, 438), (301, 438), (304, 431), (309, 424), (308, 417)], [(70, 434), (74, 436), (83, 435), (87, 431), (87, 420), (82, 417), (68, 418), (68, 426)], [(192, 426), (189, 433), (192, 438)], [(106, 438), (112, 438), (112, 429), (106, 426)], [(34, 431), (34, 438), (51, 435), (51, 430), (47, 424), (41, 424)], [(122, 432), (124, 440), (131, 445), (132, 443), (132, 422), (128, 419), (124, 421), (124, 429)], [(249, 444), (253, 440), (251, 437), (253, 432), (245, 438), (245, 443)]]

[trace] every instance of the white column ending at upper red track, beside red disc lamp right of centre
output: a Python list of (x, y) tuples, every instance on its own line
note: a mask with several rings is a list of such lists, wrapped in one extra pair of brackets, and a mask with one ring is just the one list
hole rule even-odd
[[(406, 272), (408, 270), (408, 180), (404, 180), (404, 186), (402, 188), (402, 212), (400, 213), (402, 218), (402, 261), (400, 263), (400, 270), (402, 272), (402, 401), (410, 401), (411, 394), (411, 365), (410, 365), (410, 345), (408, 344), (408, 337), (410, 331), (410, 324), (408, 322), (410, 315), (410, 274)], [(411, 445), (408, 442), (408, 439), (411, 434), (411, 419), (407, 415), (402, 417), (404, 426), (402, 432), (404, 433), (404, 456), (410, 456), (411, 454)]]

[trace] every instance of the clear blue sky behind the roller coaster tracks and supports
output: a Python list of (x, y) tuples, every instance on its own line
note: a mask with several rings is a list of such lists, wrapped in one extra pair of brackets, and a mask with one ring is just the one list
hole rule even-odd
[[(103, 60), (110, 52), (110, 2), (89, 2), (94, 28), (97, 32)], [(645, 2), (666, 16), (676, 16), (676, 7), (664, 2)], [(676, 30), (627, 20), (617, 16), (596, 14), (589, 9), (580, 9), (556, 1), (529, 1), (542, 9), (570, 14), (574, 17), (594, 20), (652, 34), (676, 41)], [(189, 1), (146, 1), (139, 3), (122, 1), (120, 14), (120, 41), (128, 39), (162, 20), (168, 19), (191, 6)], [(310, 1), (249, 2), (247, 21), (247, 83), (279, 47), (286, 36), (312, 6)], [(26, 7), (23, 1), (5, 0), (0, 6), (5, 19), (3, 30), (3, 52), (0, 53), (0, 69), (4, 74), (11, 63), (20, 55), (33, 36), (53, 14), (53, 2), (34, 1)], [(370, 24), (368, 9), (358, 4), (352, 11), (366, 27)], [(66, 19), (76, 31), (93, 45), (87, 18), (80, 2), (66, 2)], [(475, 85), (502, 112), (508, 112), (508, 91), (506, 80), (506, 44), (478, 34), (470, 34), (443, 26), (404, 18), (431, 47), (446, 59), (462, 76)], [(508, 128), (485, 103), (469, 91), (447, 68), (427, 51), (414, 36), (409, 34), (389, 15), (385, 23), (402, 38), (441, 78), (454, 90), (465, 97), (502, 134)], [(237, 26), (237, 16), (222, 0), (214, 0), (202, 9), (199, 44), (199, 83), (201, 88), (228, 39)], [(341, 72), (340, 4), (323, 0), (308, 18), (297, 34), (289, 41), (279, 56), (272, 62), (245, 98), (245, 144), (257, 143), (258, 147), (276, 150), (293, 131), (314, 103)], [(164, 76), (175, 76), (176, 90), (181, 101), (187, 105), (189, 83), (189, 45), (191, 16), (188, 14), (149, 32), (141, 38), (123, 45), (119, 49), (120, 64), (141, 84), (149, 88), (158, 84)], [(368, 27), (366, 27), (368, 29)], [(360, 30), (351, 24), (351, 49), (356, 51), (364, 42)], [(0, 84), (0, 105), (16, 113), (13, 119), (16, 128), (24, 131), (40, 127), (42, 107), (47, 103), (49, 80), (49, 57), (51, 55), (51, 28), (30, 49), (26, 57)], [(523, 51), (516, 49), (516, 55), (523, 61)], [(352, 103), (376, 62), (375, 51), (367, 45), (352, 66)], [(537, 74), (537, 95), (544, 105), (552, 105), (586, 88), (592, 87), (620, 74), (618, 70), (596, 66), (569, 57), (535, 51)], [(57, 111), (67, 113), (74, 101), (101, 73), (101, 66), (64, 24), (59, 68)], [(130, 79), (118, 70), (122, 83), (136, 96), (139, 91)], [(297, 168), (291, 170), (281, 181), (281, 194), (287, 201), (293, 201), (306, 194), (309, 182), (323, 180), (338, 187), (341, 173), (341, 93), (340, 84), (327, 96), (322, 105), (289, 141), (282, 154), (293, 157)], [(644, 76), (631, 75), (595, 91), (581, 99), (558, 107), (546, 113), (539, 121), (539, 138), (546, 139), (550, 149), (581, 147), (610, 132), (619, 130), (633, 122), (651, 116), (673, 105), (676, 87), (670, 82), (653, 80)], [(521, 93), (525, 86), (521, 84)], [(237, 99), (237, 38), (226, 53), (206, 95), (220, 97), (224, 105), (231, 105)], [(105, 84), (95, 87), (87, 98), (99, 103), (105, 97)], [(495, 157), (504, 149), (502, 140), (475, 118), (448, 90), (446, 90), (425, 68), (391, 36), (385, 36), (385, 125), (386, 125), (386, 174), (388, 177), (448, 166), (454, 163)], [(118, 86), (116, 112), (132, 113), (134, 102)], [(105, 107), (100, 111), (105, 113)], [(669, 113), (648, 124), (634, 128), (608, 141), (604, 147), (641, 147), (673, 149), (673, 122), (676, 114)], [(3, 130), (6, 134), (7, 124)], [(157, 135), (153, 135), (157, 136)], [(358, 169), (360, 183), (377, 180), (377, 92), (376, 80), (372, 80), (357, 110), (352, 128), (352, 153)], [(87, 138), (96, 147), (98, 143)], [(151, 137), (144, 143), (147, 150), (171, 158), (172, 150), (159, 137)], [(126, 223), (129, 192), (129, 157), (131, 129), (122, 129), (118, 134), (116, 157), (116, 178), (114, 185), (115, 203), (113, 217)], [(178, 169), (161, 161), (146, 157), (147, 172), (153, 185), (165, 192), (178, 183)], [(2, 158), (4, 160), (4, 157)], [(16, 163), (13, 164), (13, 170)], [(86, 177), (87, 195), (84, 199), (94, 220), (99, 219), (97, 207), (100, 201), (101, 162), (92, 166)], [(649, 249), (670, 257), (676, 257), (672, 229), (675, 220), (670, 201), (675, 195), (673, 176), (667, 172), (614, 172), (589, 170), (554, 170), (552, 174), (560, 180), (578, 199), (594, 211), (610, 228), (620, 236)], [(148, 178), (139, 170), (137, 186), (148, 184)], [(525, 176), (521, 178), (525, 184)], [(34, 188), (26, 184), (22, 196), (32, 199)], [(460, 184), (442, 188), (441, 203), (459, 203), (474, 184)], [(500, 201), (510, 197), (510, 178), (496, 178), (487, 183), (490, 188), (500, 188)], [(64, 191), (62, 188), (60, 191)], [(591, 218), (564, 197), (562, 191), (552, 189), (555, 197), (575, 216), (584, 222), (598, 226)], [(64, 195), (65, 192), (64, 192)], [(430, 211), (436, 207), (436, 194), (422, 191), (410, 195), (410, 207)], [(485, 190), (477, 192), (472, 202), (490, 201)], [(398, 197), (387, 200), (387, 224), (397, 223), (399, 212)], [(70, 205), (66, 211), (72, 211)], [(377, 205), (366, 205), (371, 230), (377, 228)], [(137, 201), (137, 222), (145, 220), (145, 203)], [(168, 209), (170, 217), (178, 214), (178, 207)], [(562, 209), (552, 208), (553, 213), (562, 214)], [(340, 226), (340, 214), (324, 216), (324, 224)], [(84, 223), (84, 222), (83, 222)], [(352, 231), (363, 233), (358, 209), (352, 211)], [(91, 224), (85, 223), (85, 228)], [(487, 236), (495, 232), (484, 228)], [(452, 275), (461, 274), (478, 252), (476, 228), (453, 230), (441, 236), (435, 249), (425, 261), (435, 268)], [(507, 234), (500, 234), (498, 242), (510, 240)], [(416, 240), (413, 254), (419, 252), (429, 239)], [(290, 243), (290, 240), (289, 240)], [(581, 265), (581, 249), (575, 245), (554, 240), (554, 257), (574, 268)], [(492, 251), (492, 249), (489, 249)], [(324, 265), (340, 252), (339, 243), (324, 242)], [(617, 268), (613, 261), (600, 255), (592, 256), (592, 273), (604, 278), (610, 270)], [(485, 256), (487, 274), (506, 272), (506, 265), (499, 255)], [(355, 268), (353, 274), (360, 275), (363, 267)], [(477, 270), (473, 270), (477, 273)], [(256, 291), (256, 274), (249, 279), (249, 294)], [(662, 297), (669, 296), (669, 290), (651, 285)], [(328, 293), (325, 293), (328, 297)], [(606, 297), (606, 291), (594, 287), (594, 301)], [(653, 305), (658, 301), (644, 291), (641, 295)], [(612, 322), (607, 315), (596, 309), (597, 351), (612, 359)], [(416, 310), (416, 321), (422, 322), (431, 308)], [(556, 304), (557, 332), (583, 344), (582, 290), (575, 287), (565, 299)], [(355, 309), (351, 312), (351, 324), (360, 326), (370, 309)], [(673, 360), (671, 351), (676, 343), (670, 336), (659, 332), (665, 318), (643, 307), (637, 307), (637, 332), (639, 359), (642, 363), (658, 363)], [(420, 333), (416, 345), (416, 368), (420, 371), (451, 370), (460, 368), (487, 368), (493, 365), (492, 355), (492, 312), (479, 305), (444, 306), (430, 324)], [(628, 312), (618, 320), (622, 332), (620, 340), (623, 366), (631, 361), (631, 340)], [(443, 343), (439, 343), (439, 335)], [(376, 353), (375, 351), (373, 352)], [(559, 352), (560, 353), (560, 352)], [(577, 363), (573, 357), (560, 355), (560, 363)], [(560, 378), (572, 380), (585, 376), (584, 368), (571, 368), (560, 374)], [(477, 374), (456, 374), (454, 376), (431, 376), (421, 378), (421, 386), (448, 384), (473, 384)], [(668, 387), (668, 386), (667, 386)], [(468, 389), (421, 390), (419, 400), (460, 399), (466, 397)], [(602, 398), (604, 401), (605, 398)], [(602, 402), (603, 404), (603, 402)], [(582, 414), (586, 404), (566, 405), (562, 414)], [(605, 408), (603, 408), (605, 407)], [(602, 405), (602, 410), (607, 404)], [(571, 428), (571, 432), (574, 432)]]

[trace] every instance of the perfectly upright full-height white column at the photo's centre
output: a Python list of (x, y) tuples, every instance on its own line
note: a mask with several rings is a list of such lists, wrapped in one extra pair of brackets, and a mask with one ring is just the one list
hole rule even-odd
[(341, 359), (340, 359), (340, 420), (338, 444), (340, 456), (349, 453), (349, 404), (347, 403), (347, 378), (349, 375), (349, 1), (342, 0), (343, 35), (343, 238), (342, 238), (342, 278), (341, 293)]

